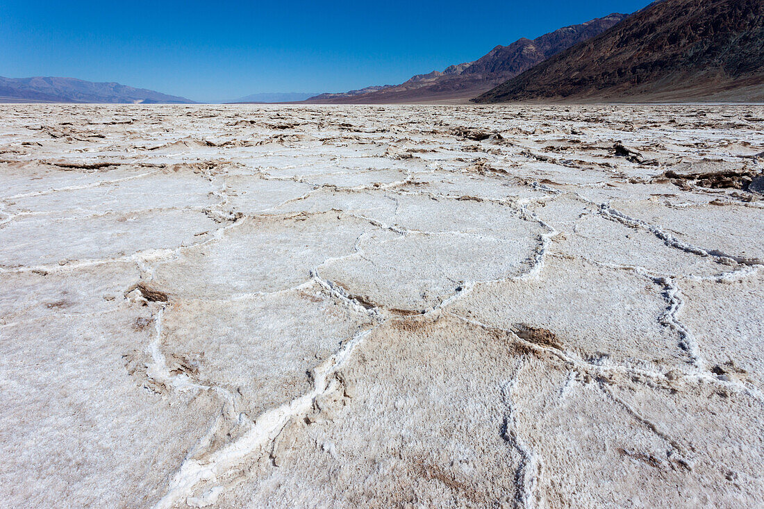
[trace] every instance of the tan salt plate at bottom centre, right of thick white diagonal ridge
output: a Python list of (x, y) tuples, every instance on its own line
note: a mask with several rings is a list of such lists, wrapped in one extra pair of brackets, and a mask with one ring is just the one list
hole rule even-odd
[[(266, 487), (300, 500), (293, 476), (315, 469), (306, 483), (321, 490), (336, 462), (345, 473), (322, 496), (339, 504), (363, 498), (360, 478), (389, 488), (367, 494), (372, 503), (402, 501), (401, 491), (413, 485), (444, 504), (455, 496), (479, 504), (507, 492), (511, 500), (518, 458), (500, 434), (505, 407), (497, 387), (513, 361), (506, 341), (455, 319), (390, 321), (342, 368), (357, 394), (345, 410), (306, 426), (290, 444), (282, 485), (271, 485), (280, 472), (264, 472), (232, 490), (229, 500), (261, 500)], [(476, 370), (478, 364), (484, 368)], [(451, 438), (442, 442), (442, 436)], [(336, 458), (332, 446), (315, 443), (333, 444)]]

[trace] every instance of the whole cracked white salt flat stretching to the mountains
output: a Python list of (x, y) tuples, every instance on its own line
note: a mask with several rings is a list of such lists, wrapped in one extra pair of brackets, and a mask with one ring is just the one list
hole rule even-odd
[(764, 504), (764, 107), (0, 118), (2, 506)]

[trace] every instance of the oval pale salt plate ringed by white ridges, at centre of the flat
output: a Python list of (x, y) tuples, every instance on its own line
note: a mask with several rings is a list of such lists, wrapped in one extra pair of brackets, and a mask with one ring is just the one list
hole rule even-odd
[(361, 250), (318, 267), (322, 279), (348, 297), (393, 313), (424, 313), (479, 281), (518, 277), (541, 263), (539, 225), (518, 224), (513, 238), (481, 234), (410, 232), (370, 238)]

